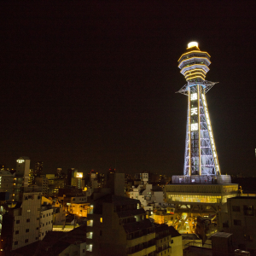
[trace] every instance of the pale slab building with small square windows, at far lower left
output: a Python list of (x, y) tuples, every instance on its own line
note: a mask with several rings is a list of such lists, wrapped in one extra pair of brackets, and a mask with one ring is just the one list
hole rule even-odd
[(3, 215), (1, 239), (7, 253), (39, 240), (41, 192), (25, 190), (16, 207)]

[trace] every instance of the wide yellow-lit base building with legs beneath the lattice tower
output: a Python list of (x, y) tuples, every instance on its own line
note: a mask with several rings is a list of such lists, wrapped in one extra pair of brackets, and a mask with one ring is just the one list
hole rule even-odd
[(227, 212), (227, 199), (236, 196), (238, 184), (183, 183), (165, 186), (166, 202), (175, 206), (174, 227), (195, 233), (196, 218), (215, 215), (216, 230), (222, 230), (220, 212)]

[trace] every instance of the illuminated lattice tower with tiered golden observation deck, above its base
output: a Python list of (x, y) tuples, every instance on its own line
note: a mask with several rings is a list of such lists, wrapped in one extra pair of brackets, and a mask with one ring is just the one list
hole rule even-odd
[(220, 175), (218, 156), (207, 109), (206, 93), (213, 82), (206, 81), (210, 55), (196, 42), (188, 44), (178, 60), (178, 67), (187, 80), (178, 93), (188, 96), (188, 116), (183, 175)]

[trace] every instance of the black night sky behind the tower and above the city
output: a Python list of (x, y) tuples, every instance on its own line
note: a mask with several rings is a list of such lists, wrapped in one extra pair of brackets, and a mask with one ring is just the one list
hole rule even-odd
[(256, 175), (255, 1), (39, 3), (0, 4), (1, 164), (183, 174), (195, 40), (221, 172)]

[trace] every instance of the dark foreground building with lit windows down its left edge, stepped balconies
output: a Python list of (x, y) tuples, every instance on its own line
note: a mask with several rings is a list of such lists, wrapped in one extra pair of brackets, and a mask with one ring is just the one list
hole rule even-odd
[(154, 225), (139, 205), (137, 200), (111, 194), (91, 202), (86, 255), (153, 256)]

